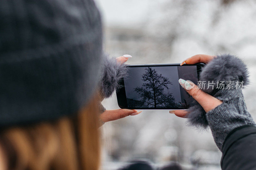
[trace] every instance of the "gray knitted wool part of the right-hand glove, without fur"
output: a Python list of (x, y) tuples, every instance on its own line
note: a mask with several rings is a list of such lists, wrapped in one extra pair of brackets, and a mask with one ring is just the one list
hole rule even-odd
[[(230, 98), (223, 98), (223, 96), (227, 96), (226, 93)], [(244, 125), (255, 125), (255, 122), (247, 111), (241, 89), (226, 89), (217, 92), (214, 96), (219, 99), (222, 96), (223, 103), (207, 112), (206, 119), (214, 141), (222, 151), (222, 145), (229, 132)]]

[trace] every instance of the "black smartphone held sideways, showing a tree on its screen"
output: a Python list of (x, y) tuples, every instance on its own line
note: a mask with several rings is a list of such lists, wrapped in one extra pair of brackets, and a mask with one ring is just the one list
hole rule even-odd
[(116, 90), (120, 108), (187, 109), (194, 100), (179, 84), (179, 79), (197, 84), (204, 63), (133, 64)]

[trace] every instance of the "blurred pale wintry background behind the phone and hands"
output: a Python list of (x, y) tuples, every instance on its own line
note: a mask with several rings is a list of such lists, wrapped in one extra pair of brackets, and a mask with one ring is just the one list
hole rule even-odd
[[(244, 90), (256, 120), (255, 0), (96, 0), (104, 24), (104, 48), (127, 63), (180, 63), (196, 54), (228, 52), (248, 65), (251, 84)], [(118, 108), (116, 95), (103, 101)], [(153, 166), (179, 162), (183, 169), (220, 169), (221, 153), (211, 131), (197, 130), (169, 110), (107, 122), (102, 131), (102, 170), (116, 170), (142, 159)]]

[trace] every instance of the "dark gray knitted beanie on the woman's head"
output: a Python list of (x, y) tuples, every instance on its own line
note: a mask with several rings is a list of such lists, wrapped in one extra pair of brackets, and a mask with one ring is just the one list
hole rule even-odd
[(0, 127), (76, 113), (100, 77), (94, 2), (2, 0), (0, 17)]

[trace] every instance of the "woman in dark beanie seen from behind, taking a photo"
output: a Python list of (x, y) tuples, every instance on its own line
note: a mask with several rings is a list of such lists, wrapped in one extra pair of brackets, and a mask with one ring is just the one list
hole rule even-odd
[[(122, 63), (127, 57), (119, 57), (117, 62), (102, 57), (100, 14), (94, 2), (3, 0), (0, 15), (0, 169), (99, 169), (99, 123), (140, 112), (105, 111), (99, 104), (111, 95), (125, 73)], [(196, 55), (185, 62), (209, 62), (211, 66), (210, 60), (216, 61), (213, 58)], [(232, 113), (240, 109), (243, 114), (229, 122), (227, 115), (232, 114), (225, 108), (234, 102), (224, 102), (195, 88), (188, 93), (207, 114), (214, 112), (209, 117), (195, 104), (190, 113), (174, 113), (189, 117), (199, 109), (206, 115), (217, 145), (222, 146), (227, 138), (222, 167), (241, 167), (245, 161), (248, 167), (255, 165), (255, 127), (248, 126), (254, 122), (245, 107), (234, 106)], [(236, 99), (243, 102), (241, 95)], [(100, 111), (103, 113), (98, 115)], [(222, 112), (227, 114), (220, 121)], [(235, 125), (222, 133), (224, 128), (216, 124), (226, 122), (227, 127), (233, 122)], [(237, 127), (240, 129), (233, 131)], [(233, 133), (227, 135), (230, 130)], [(239, 155), (236, 148), (243, 148), (246, 154)], [(239, 161), (232, 161), (237, 158)]]

